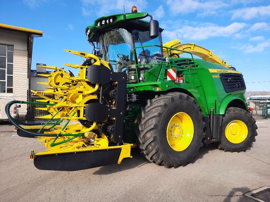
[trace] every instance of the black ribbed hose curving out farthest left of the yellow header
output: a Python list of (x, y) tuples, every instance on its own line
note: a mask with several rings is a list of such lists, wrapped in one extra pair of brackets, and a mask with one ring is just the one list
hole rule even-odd
[[(12, 118), (12, 116), (10, 115), (10, 107), (15, 104), (15, 103), (20, 103), (20, 104), (24, 104), (23, 101), (19, 101), (19, 100), (12, 100), (10, 101), (6, 107), (5, 107), (5, 112), (6, 112), (6, 115), (8, 116), (8, 119), (11, 121), (11, 123), (17, 127), (19, 130), (29, 134), (29, 135), (33, 135), (33, 136), (41, 136), (41, 137), (61, 137), (62, 135), (61, 134), (44, 134), (44, 133), (34, 133), (34, 132), (31, 132), (31, 131), (27, 131), (25, 130), (24, 128), (22, 128), (20, 125), (18, 125), (16, 123), (16, 121)], [(34, 125), (34, 124), (32, 124)]]

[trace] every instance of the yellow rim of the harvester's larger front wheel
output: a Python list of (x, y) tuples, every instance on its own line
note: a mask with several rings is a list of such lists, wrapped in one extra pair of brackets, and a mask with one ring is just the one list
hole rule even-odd
[(191, 143), (194, 134), (193, 121), (184, 112), (174, 114), (167, 127), (167, 141), (175, 151), (185, 150)]

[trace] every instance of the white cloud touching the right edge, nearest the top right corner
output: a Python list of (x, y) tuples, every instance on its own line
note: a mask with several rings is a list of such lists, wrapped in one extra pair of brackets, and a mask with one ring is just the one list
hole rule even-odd
[(249, 20), (260, 16), (270, 16), (270, 5), (269, 6), (258, 6), (250, 8), (240, 8), (232, 11), (233, 15), (231, 19), (242, 18)]

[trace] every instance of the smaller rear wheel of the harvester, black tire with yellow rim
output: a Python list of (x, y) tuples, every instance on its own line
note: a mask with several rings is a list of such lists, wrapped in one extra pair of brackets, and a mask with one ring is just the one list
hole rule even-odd
[(246, 151), (252, 147), (252, 142), (256, 141), (255, 136), (258, 135), (255, 123), (255, 119), (246, 110), (237, 107), (228, 108), (222, 118), (221, 142), (215, 144), (216, 147), (225, 152)]

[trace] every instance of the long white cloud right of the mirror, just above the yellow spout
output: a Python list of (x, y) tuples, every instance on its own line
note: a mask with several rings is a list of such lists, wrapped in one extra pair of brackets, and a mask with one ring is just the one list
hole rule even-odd
[(228, 26), (218, 26), (211, 23), (197, 27), (183, 26), (181, 29), (164, 31), (169, 39), (203, 40), (210, 37), (230, 37), (246, 26), (246, 23), (234, 22)]

